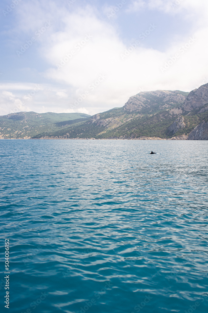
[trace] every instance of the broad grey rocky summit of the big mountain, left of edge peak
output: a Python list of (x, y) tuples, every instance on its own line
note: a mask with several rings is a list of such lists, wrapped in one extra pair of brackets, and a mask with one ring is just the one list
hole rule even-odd
[(145, 91), (129, 98), (124, 105), (124, 110), (129, 112), (139, 112), (143, 108), (154, 107), (160, 105), (159, 109), (169, 108), (172, 105), (181, 105), (185, 100), (185, 96), (178, 90), (156, 90)]

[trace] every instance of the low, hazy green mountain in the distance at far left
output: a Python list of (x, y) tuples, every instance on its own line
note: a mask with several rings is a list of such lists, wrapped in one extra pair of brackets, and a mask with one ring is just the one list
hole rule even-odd
[(29, 139), (39, 133), (58, 131), (63, 126), (87, 120), (83, 113), (19, 112), (0, 116), (0, 138)]

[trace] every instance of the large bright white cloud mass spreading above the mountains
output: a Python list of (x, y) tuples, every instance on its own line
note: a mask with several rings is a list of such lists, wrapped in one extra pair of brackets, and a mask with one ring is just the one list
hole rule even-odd
[[(134, 9), (141, 9), (146, 5), (148, 9), (176, 14), (170, 7), (173, 2), (149, 0), (145, 4), (144, 1), (133, 1), (132, 5)], [(54, 2), (49, 3), (51, 5), (47, 4), (46, 14), (44, 5), (43, 8), (37, 5), (34, 9), (34, 3), (30, 6), (24, 4), (19, 13), (21, 20), (16, 32), (23, 31), (28, 21), (31, 21), (31, 31), (35, 31), (45, 20), (57, 16), (58, 22), (53, 20), (53, 26), (47, 36), (40, 39), (39, 55), (49, 64), (48, 69), (42, 74), (64, 87), (58, 88), (54, 84), (40, 85), (39, 91), (26, 103), (28, 110), (39, 113), (54, 111), (95, 114), (123, 106), (130, 96), (137, 94), (141, 89), (190, 91), (203, 81), (203, 77), (207, 77), (208, 28), (207, 21), (202, 24), (201, 20), (205, 21), (208, 5), (203, 0), (198, 2), (184, 0), (178, 5), (177, 12), (183, 14), (185, 12), (184, 18), (191, 18), (195, 14), (195, 28), (190, 31), (190, 35), (183, 36), (182, 40), (181, 37), (174, 39), (164, 52), (145, 48), (145, 40), (139, 38), (141, 44), (135, 49), (129, 49), (122, 41), (117, 28), (100, 19), (90, 6), (70, 11), (59, 8)], [(154, 31), (151, 35), (154, 35)], [(161, 67), (179, 53), (179, 49), (189, 42), (190, 36), (197, 40), (184, 53), (180, 52), (179, 58), (162, 73)], [(127, 49), (132, 51), (122, 59), (121, 54), (125, 51), (128, 53)], [(106, 77), (99, 82), (100, 75)], [(95, 84), (94, 89), (91, 87), (92, 84)], [(12, 103), (15, 103), (15, 100), (23, 102), (25, 100), (23, 96), (33, 88), (34, 84), (4, 83), (0, 89), (11, 90), (13, 94), (7, 95), (7, 98), (4, 95), (2, 112), (6, 112), (6, 108), (10, 110), (12, 101)], [(73, 108), (75, 101), (86, 92), (89, 94), (85, 99)], [(14, 98), (12, 100), (9, 97)]]

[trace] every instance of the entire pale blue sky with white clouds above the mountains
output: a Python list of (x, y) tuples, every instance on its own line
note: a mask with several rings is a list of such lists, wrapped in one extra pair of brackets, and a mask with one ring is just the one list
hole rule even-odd
[(0, 115), (94, 115), (208, 83), (207, 0), (2, 0)]

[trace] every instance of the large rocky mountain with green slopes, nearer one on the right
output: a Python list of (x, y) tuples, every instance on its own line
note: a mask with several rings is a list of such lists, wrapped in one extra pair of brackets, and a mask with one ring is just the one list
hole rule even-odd
[(98, 113), (87, 121), (61, 131), (41, 133), (35, 138), (188, 139), (189, 135), (192, 138), (191, 131), (197, 125), (206, 122), (207, 95), (208, 84), (190, 93), (179, 90), (140, 92), (121, 108)]

